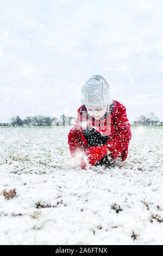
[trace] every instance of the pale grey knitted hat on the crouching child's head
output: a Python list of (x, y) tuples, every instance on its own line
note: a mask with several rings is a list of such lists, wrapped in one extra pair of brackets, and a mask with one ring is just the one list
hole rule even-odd
[(112, 99), (109, 87), (109, 84), (101, 75), (91, 76), (82, 88), (82, 104), (92, 106), (110, 105)]

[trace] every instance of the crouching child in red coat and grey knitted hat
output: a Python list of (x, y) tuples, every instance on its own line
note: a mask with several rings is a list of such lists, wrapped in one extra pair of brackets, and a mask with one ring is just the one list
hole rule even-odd
[(87, 164), (111, 167), (117, 159), (123, 162), (131, 139), (125, 106), (111, 99), (109, 84), (101, 75), (86, 81), (81, 101), (76, 124), (68, 134), (70, 166), (86, 169)]

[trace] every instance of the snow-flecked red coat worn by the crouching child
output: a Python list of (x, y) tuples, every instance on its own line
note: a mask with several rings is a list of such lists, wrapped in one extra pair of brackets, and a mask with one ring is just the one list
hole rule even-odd
[(98, 125), (98, 121), (95, 121), (94, 118), (91, 120), (90, 124), (85, 105), (80, 106), (76, 124), (68, 134), (68, 144), (72, 156), (74, 156), (77, 149), (85, 151), (87, 148), (87, 141), (84, 137), (82, 127), (84, 123), (86, 127), (94, 126), (97, 132), (108, 136), (108, 141), (105, 145), (114, 159), (120, 156), (123, 162), (127, 158), (131, 129), (126, 115), (126, 108), (121, 103), (113, 100), (113, 104), (110, 106), (110, 113), (111, 114), (108, 116), (105, 115), (104, 118), (102, 118), (103, 120), (100, 126)]

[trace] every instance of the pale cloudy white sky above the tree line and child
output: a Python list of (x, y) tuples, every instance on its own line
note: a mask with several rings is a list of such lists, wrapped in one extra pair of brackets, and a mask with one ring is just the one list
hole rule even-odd
[(100, 74), (129, 121), (163, 121), (162, 0), (0, 0), (0, 122), (77, 114)]

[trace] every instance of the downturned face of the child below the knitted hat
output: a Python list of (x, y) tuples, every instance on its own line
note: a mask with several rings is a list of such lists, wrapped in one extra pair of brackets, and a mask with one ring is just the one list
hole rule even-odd
[(104, 106), (85, 105), (85, 106), (88, 114), (97, 120), (99, 120), (102, 116), (105, 115), (106, 109), (108, 107), (108, 105), (104, 105)]

